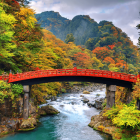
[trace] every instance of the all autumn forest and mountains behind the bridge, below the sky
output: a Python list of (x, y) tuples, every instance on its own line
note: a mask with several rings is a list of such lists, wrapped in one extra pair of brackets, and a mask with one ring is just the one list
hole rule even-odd
[[(16, 73), (73, 68), (74, 63), (78, 68), (138, 74), (137, 46), (112, 22), (97, 23), (88, 15), (70, 21), (53, 11), (35, 14), (28, 2), (0, 2), (0, 74), (10, 69)], [(42, 102), (44, 95), (56, 95), (62, 85), (33, 85), (32, 95)]]

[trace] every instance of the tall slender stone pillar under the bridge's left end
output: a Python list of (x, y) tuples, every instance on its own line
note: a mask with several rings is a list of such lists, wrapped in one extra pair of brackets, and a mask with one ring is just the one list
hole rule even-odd
[(23, 118), (28, 119), (29, 117), (29, 94), (30, 94), (30, 86), (24, 85), (24, 98), (23, 98)]

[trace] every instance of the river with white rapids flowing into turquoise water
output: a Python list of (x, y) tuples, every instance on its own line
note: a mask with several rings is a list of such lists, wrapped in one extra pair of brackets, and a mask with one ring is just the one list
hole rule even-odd
[[(105, 90), (84, 96), (94, 100), (97, 93), (105, 96)], [(59, 114), (40, 118), (40, 125), (33, 131), (16, 133), (0, 140), (112, 140), (88, 126), (91, 116), (100, 111), (89, 108), (81, 101), (80, 95), (65, 93), (57, 101), (48, 101), (60, 111)]]

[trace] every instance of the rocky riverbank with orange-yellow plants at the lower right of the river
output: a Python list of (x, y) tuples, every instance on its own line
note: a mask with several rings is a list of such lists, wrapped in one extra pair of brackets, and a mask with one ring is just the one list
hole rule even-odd
[(114, 140), (140, 140), (140, 131), (117, 127), (112, 123), (111, 119), (103, 115), (106, 110), (108, 109), (105, 108), (99, 115), (92, 116), (88, 126), (94, 130), (111, 135)]

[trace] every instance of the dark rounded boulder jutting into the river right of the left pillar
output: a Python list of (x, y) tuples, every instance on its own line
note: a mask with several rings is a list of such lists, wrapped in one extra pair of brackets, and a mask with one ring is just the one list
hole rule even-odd
[(58, 113), (60, 112), (50, 105), (42, 106), (41, 108), (38, 109), (38, 114), (42, 116), (53, 115), (53, 114), (58, 114)]

